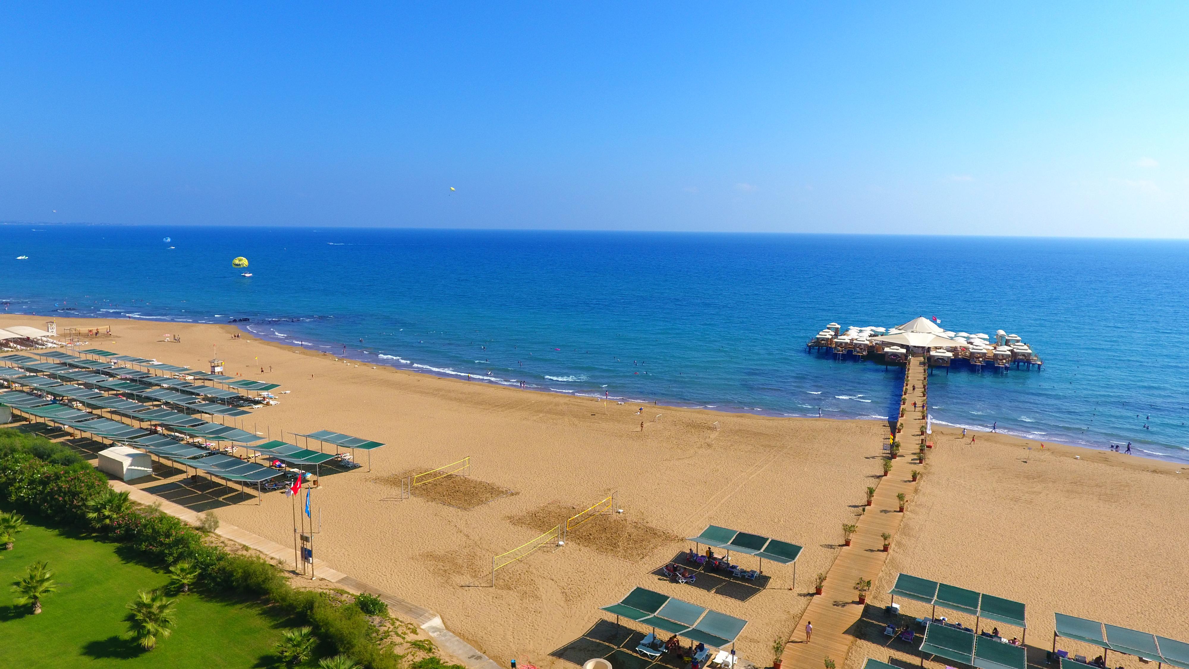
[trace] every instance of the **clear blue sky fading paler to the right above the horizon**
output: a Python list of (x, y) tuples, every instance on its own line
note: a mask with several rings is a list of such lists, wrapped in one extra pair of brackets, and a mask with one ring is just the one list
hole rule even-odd
[(328, 5), (5, 4), (0, 220), (1189, 237), (1185, 4)]

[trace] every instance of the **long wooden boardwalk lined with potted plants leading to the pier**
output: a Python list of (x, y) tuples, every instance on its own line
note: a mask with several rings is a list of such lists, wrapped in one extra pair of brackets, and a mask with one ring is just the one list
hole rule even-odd
[[(897, 533), (904, 518), (899, 513), (900, 502), (897, 493), (904, 493), (912, 502), (917, 487), (911, 480), (911, 470), (920, 469), (916, 452), (920, 443), (920, 408), (913, 411), (912, 402), (925, 406), (925, 383), (927, 367), (923, 358), (910, 359), (905, 382), (904, 430), (899, 434), (901, 442), (900, 457), (892, 461), (892, 471), (879, 479), (875, 486), (875, 498), (872, 506), (860, 517), (855, 525), (858, 530), (851, 536), (851, 545), (839, 549), (838, 558), (826, 574), (822, 595), (810, 602), (792, 638), (781, 657), (786, 669), (824, 669), (825, 658), (833, 659), (842, 667), (855, 642), (853, 629), (862, 615), (863, 607), (858, 605), (858, 593), (855, 582), (870, 579), (873, 582), (883, 568), (887, 558), (883, 552), (882, 534), (892, 534), (892, 550), (895, 550)], [(916, 386), (916, 390), (913, 390)], [(813, 624), (812, 640), (805, 640), (805, 625)]]

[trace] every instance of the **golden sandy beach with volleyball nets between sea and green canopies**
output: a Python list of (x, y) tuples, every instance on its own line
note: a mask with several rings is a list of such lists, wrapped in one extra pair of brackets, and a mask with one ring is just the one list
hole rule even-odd
[[(0, 327), (44, 320), (6, 315)], [(520, 390), (373, 368), (247, 333), (233, 338), (239, 331), (232, 326), (57, 321), (59, 329), (111, 325), (114, 336), (92, 339), (92, 346), (172, 364), (205, 369), (218, 354), (227, 374), (290, 392), (237, 423), (246, 430), (272, 438), (333, 430), (386, 443), (372, 452), (370, 473), (322, 476), (314, 493), (319, 557), (433, 608), (504, 664), (573, 667), (551, 654), (602, 619), (599, 606), (637, 586), (749, 620), (738, 654), (770, 664), (774, 638), (803, 638), (793, 630), (813, 575), (838, 555), (839, 527), (880, 471), (886, 425), (874, 420), (766, 418)], [(165, 342), (165, 333), (182, 343)], [(887, 602), (883, 593), (905, 571), (1024, 601), (1027, 640), (1039, 648), (1051, 643), (1055, 611), (1189, 639), (1189, 618), (1178, 613), (1189, 573), (1189, 474), (1176, 474), (1179, 467), (1170, 463), (1048, 443), (1040, 449), (999, 434), (980, 433), (970, 445), (938, 432), (936, 443), (875, 579), (874, 605)], [(464, 456), (471, 457), (465, 489), (459, 483), (398, 499), (403, 475)], [(176, 480), (139, 487), (176, 496)], [(493, 555), (612, 493), (623, 514), (599, 518), (567, 545), (501, 569), (495, 588), (468, 587), (490, 586)], [(262, 506), (250, 499), (215, 511), (263, 537), (292, 540), (291, 501), (279, 493), (264, 495)], [(654, 574), (691, 545), (684, 537), (707, 524), (805, 546), (797, 582), (789, 568), (766, 563), (767, 588), (732, 598)], [(927, 609), (905, 602), (904, 612)], [(889, 652), (916, 662), (861, 640), (847, 665)]]

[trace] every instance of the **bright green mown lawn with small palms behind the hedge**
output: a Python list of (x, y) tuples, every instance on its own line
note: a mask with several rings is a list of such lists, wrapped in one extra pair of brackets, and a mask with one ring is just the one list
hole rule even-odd
[[(11, 551), (0, 550), (0, 667), (271, 667), (281, 630), (258, 604), (177, 598), (174, 634), (141, 651), (128, 640), (127, 611), (137, 589), (164, 586), (166, 575), (125, 562), (119, 544), (65, 536), (30, 525)], [(12, 582), (38, 559), (49, 561), (58, 592), (40, 615), (12, 604)]]

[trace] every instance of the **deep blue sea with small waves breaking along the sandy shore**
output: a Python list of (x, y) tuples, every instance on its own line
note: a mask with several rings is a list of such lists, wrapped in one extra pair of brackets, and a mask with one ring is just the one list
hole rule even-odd
[(10, 313), (247, 318), (429, 374), (768, 415), (887, 419), (897, 370), (805, 343), (937, 317), (1045, 364), (935, 373), (935, 421), (1189, 462), (1185, 242), (10, 224), (0, 273)]

